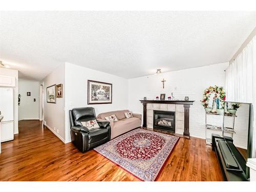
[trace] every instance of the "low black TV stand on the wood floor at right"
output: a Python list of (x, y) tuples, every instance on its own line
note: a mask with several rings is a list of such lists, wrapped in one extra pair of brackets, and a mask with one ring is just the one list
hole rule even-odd
[(245, 175), (246, 161), (230, 137), (212, 134), (212, 150), (216, 152), (225, 181), (248, 181)]

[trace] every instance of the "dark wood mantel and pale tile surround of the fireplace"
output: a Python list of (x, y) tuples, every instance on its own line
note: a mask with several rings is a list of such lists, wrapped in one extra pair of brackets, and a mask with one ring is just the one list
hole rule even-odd
[(153, 129), (153, 114), (157, 111), (175, 112), (175, 133), (189, 137), (189, 108), (194, 101), (140, 100), (143, 104), (143, 126)]

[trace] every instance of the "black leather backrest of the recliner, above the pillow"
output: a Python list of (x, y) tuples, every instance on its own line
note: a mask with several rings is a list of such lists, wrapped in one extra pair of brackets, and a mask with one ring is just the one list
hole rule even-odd
[(81, 125), (81, 121), (96, 119), (94, 108), (74, 108), (70, 110), (70, 125)]

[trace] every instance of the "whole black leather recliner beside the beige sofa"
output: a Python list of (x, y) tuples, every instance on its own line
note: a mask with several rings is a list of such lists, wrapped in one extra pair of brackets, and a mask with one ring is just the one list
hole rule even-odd
[(71, 141), (81, 152), (86, 152), (110, 140), (109, 121), (98, 121), (99, 128), (89, 131), (81, 122), (96, 119), (94, 108), (74, 108), (69, 111)]

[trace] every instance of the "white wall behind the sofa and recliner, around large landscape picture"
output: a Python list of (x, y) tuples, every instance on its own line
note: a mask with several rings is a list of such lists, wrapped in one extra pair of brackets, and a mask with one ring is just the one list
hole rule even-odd
[[(128, 80), (100, 71), (72, 65), (66, 62), (66, 142), (70, 141), (69, 110), (91, 106), (96, 115), (102, 112), (128, 109)], [(113, 84), (112, 104), (87, 104), (87, 80), (96, 80)]]

